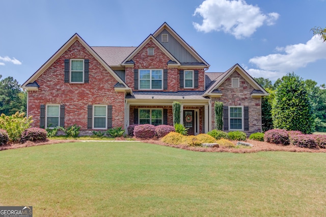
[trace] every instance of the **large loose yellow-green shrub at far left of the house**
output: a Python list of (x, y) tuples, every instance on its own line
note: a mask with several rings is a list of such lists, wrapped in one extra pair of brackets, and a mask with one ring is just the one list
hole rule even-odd
[(19, 142), (21, 133), (33, 123), (32, 116), (28, 118), (24, 116), (25, 113), (19, 114), (19, 112), (11, 116), (5, 114), (0, 116), (0, 128), (7, 131), (10, 141)]

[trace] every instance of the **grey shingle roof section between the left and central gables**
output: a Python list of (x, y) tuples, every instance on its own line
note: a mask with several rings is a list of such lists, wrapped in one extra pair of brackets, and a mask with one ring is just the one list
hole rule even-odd
[(109, 66), (119, 66), (137, 47), (91, 47)]

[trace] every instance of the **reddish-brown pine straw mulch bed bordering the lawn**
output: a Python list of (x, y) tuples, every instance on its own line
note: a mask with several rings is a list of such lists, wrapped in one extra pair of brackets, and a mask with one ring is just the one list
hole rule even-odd
[[(116, 139), (117, 141), (123, 140), (122, 138)], [(180, 148), (189, 151), (200, 151), (200, 152), (230, 152), (230, 153), (254, 153), (258, 151), (289, 151), (289, 152), (323, 152), (326, 153), (326, 149), (308, 149), (308, 148), (299, 148), (293, 145), (288, 146), (280, 146), (266, 142), (259, 142), (255, 140), (247, 140), (247, 143), (254, 145), (253, 147), (241, 147), (241, 148), (206, 148), (206, 147), (198, 147), (198, 146), (186, 146), (186, 145), (171, 145), (163, 143), (159, 140), (139, 140), (144, 143), (151, 143), (157, 144), (162, 146), (169, 146), (174, 148)], [(71, 143), (71, 142), (80, 142), (78, 140), (47, 140), (46, 142), (26, 142), (23, 144), (7, 144), (5, 146), (0, 146), (0, 151), (7, 150), (7, 149), (16, 149), (16, 148), (24, 148), (24, 147), (31, 147), (31, 146), (40, 146), (40, 145), (51, 145), (51, 144), (58, 144), (58, 143)], [(236, 144), (236, 141), (233, 141)]]

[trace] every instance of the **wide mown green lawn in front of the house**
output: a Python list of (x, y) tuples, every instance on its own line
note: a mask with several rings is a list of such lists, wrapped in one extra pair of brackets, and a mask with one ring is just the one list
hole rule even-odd
[(0, 151), (0, 205), (34, 216), (323, 216), (326, 154), (137, 142)]

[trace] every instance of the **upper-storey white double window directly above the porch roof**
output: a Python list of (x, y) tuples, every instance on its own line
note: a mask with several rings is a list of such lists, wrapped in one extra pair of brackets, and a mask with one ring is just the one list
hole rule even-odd
[(142, 90), (162, 90), (161, 69), (140, 69), (139, 89)]

